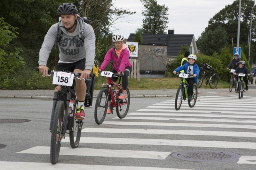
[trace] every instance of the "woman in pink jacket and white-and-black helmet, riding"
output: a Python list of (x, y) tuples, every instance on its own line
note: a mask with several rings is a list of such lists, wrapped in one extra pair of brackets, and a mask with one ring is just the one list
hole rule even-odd
[[(122, 35), (114, 35), (112, 38), (114, 43), (114, 48), (110, 48), (105, 55), (104, 61), (101, 64), (99, 71), (103, 71), (110, 60), (113, 60), (113, 73), (123, 74), (122, 77), (122, 87), (123, 92), (118, 96), (118, 99), (126, 98), (126, 89), (128, 87), (128, 76), (130, 76), (132, 72), (132, 64), (129, 61), (130, 53), (126, 46), (123, 44), (124, 37)], [(116, 82), (117, 78), (111, 78), (112, 81)], [(111, 97), (108, 98), (108, 110), (107, 113), (110, 114), (112, 112), (111, 108)]]

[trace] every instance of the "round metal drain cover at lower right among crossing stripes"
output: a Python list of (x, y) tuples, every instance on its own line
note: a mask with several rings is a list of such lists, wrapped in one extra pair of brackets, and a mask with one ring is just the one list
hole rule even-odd
[(195, 162), (225, 162), (237, 160), (241, 155), (222, 151), (183, 151), (172, 153), (172, 157)]

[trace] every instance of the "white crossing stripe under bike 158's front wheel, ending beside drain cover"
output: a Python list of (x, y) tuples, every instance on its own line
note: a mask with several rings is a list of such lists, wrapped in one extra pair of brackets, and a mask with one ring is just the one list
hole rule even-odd
[[(63, 139), (62, 142), (69, 139)], [(81, 140), (80, 140), (81, 143)], [(35, 146), (17, 153), (30, 154), (47, 154), (50, 155), (48, 146)], [(132, 151), (132, 150), (111, 150), (111, 149), (94, 149), (94, 148), (67, 148), (61, 147), (60, 155), (73, 156), (97, 156), (97, 157), (116, 157), (116, 158), (143, 158), (143, 159), (166, 159), (171, 152), (155, 152), (155, 151)]]

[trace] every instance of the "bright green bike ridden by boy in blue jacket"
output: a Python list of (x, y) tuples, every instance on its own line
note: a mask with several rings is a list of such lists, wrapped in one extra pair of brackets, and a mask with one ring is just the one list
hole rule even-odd
[[(193, 76), (189, 76), (188, 74), (177, 72), (176, 75), (179, 75), (181, 79), (180, 86), (178, 87), (176, 97), (175, 97), (175, 109), (180, 110), (181, 104), (183, 100), (188, 99), (188, 82), (186, 78), (194, 78)], [(193, 85), (193, 100), (188, 100), (188, 106), (194, 107), (197, 100), (197, 86)], [(198, 100), (199, 101), (199, 100)]]

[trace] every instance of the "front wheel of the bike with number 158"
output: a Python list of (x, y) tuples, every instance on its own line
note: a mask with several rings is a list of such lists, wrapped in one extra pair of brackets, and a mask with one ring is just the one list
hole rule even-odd
[(56, 164), (59, 159), (60, 154), (60, 144), (63, 137), (63, 116), (65, 112), (64, 102), (59, 100), (57, 101), (53, 121), (52, 121), (52, 137), (51, 137), (51, 153), (50, 159), (52, 164)]

